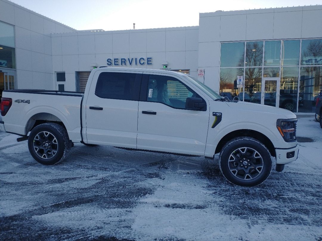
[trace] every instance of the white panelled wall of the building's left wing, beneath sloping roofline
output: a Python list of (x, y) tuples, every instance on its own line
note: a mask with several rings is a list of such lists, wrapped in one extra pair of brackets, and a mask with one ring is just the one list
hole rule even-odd
[(16, 88), (51, 90), (50, 34), (76, 30), (7, 0), (0, 0), (0, 21), (14, 25)]

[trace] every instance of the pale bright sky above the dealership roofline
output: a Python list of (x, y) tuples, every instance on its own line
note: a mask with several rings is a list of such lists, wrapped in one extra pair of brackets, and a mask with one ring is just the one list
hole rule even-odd
[(321, 0), (13, 0), (77, 30), (199, 25), (199, 13), (322, 4)]

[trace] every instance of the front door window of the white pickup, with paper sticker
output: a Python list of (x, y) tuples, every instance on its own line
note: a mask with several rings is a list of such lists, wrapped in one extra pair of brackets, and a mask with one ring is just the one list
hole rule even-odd
[(174, 108), (185, 109), (188, 97), (201, 98), (192, 89), (173, 77), (149, 76), (147, 86), (148, 102), (159, 102)]

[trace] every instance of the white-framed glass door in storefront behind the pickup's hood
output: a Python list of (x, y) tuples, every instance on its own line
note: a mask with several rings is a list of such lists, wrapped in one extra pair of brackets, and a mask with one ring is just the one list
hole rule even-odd
[(260, 103), (279, 107), (279, 85), (279, 77), (263, 78)]

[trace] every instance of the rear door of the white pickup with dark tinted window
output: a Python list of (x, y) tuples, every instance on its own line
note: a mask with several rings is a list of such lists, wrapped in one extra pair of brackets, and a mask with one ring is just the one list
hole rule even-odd
[(141, 78), (142, 72), (95, 72), (86, 101), (86, 123), (83, 123), (87, 143), (137, 147)]

